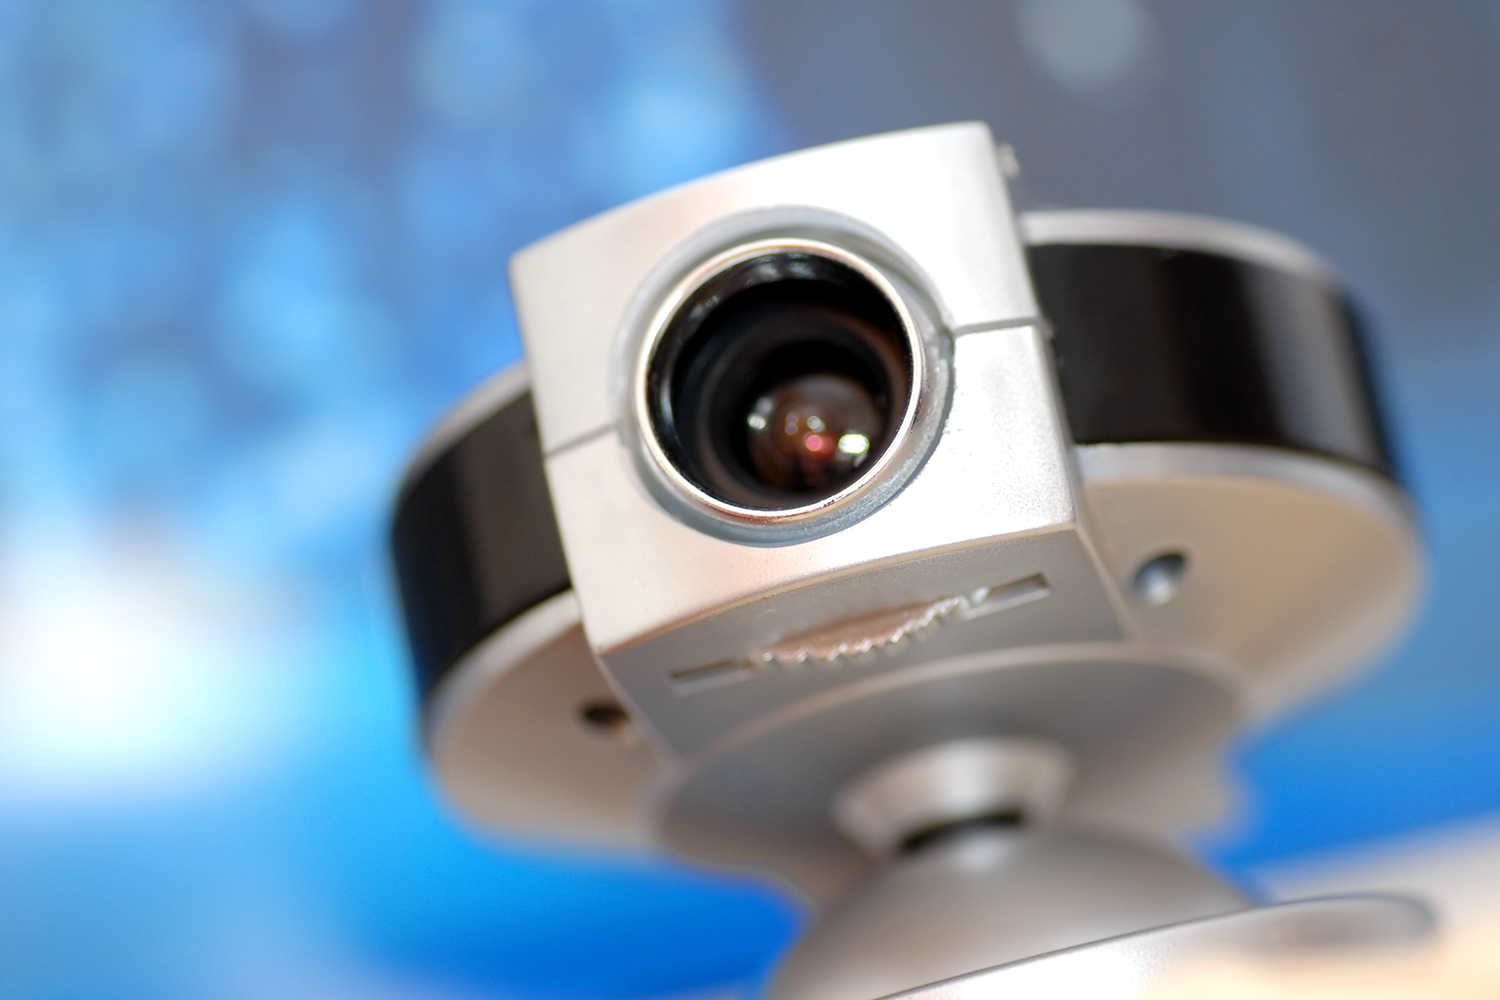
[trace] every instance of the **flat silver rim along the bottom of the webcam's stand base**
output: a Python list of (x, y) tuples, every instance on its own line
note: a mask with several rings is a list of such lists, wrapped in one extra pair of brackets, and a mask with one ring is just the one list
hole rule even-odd
[(900, 1000), (1134, 1000), (1194, 961), (1408, 948), (1430, 939), (1432, 925), (1426, 907), (1404, 897), (1304, 900), (1082, 945), (936, 982)]

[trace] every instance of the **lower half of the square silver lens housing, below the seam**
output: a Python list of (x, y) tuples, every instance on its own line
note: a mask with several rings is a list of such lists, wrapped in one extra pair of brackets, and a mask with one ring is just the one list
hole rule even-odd
[[(693, 753), (780, 706), (910, 666), (939, 640), (960, 652), (1124, 636), (1119, 598), (1077, 529), (1041, 333), (970, 333), (952, 358), (952, 402), (921, 471), (862, 520), (798, 544), (736, 544), (682, 523), (633, 478), (615, 435), (548, 460), (585, 631), (664, 750)], [(693, 694), (678, 684), (792, 636), (1038, 574), (1046, 598), (945, 625), (922, 646), (842, 670), (762, 664)]]

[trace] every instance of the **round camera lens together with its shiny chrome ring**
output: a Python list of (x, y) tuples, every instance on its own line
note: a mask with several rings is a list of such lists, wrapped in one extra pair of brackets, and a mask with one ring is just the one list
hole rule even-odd
[(756, 240), (693, 268), (656, 312), (634, 420), (650, 469), (696, 514), (807, 525), (885, 493), (928, 367), (918, 313), (879, 267), (820, 240)]

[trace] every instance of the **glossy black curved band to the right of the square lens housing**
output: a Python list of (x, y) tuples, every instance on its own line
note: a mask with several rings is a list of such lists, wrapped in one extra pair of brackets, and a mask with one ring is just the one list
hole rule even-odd
[(1270, 445), (1394, 475), (1359, 318), (1322, 277), (1156, 246), (1028, 256), (1080, 444)]

